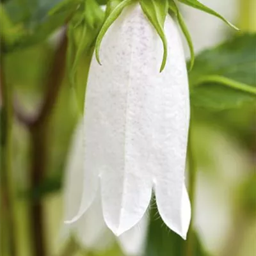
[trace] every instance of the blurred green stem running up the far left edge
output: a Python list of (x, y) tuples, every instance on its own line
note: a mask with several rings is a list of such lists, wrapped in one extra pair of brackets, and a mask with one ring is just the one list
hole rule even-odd
[[(1, 118), (1, 136), (3, 136), (3, 156), (1, 163), (3, 164), (3, 173), (1, 173), (1, 192), (3, 191), (3, 206), (6, 212), (6, 222), (8, 227), (8, 240), (10, 242), (10, 255), (18, 255), (18, 243), (15, 219), (15, 191), (12, 177), (12, 88), (5, 83), (3, 60), (0, 67), (0, 109)], [(3, 95), (2, 95), (3, 94)], [(1, 99), (3, 96), (3, 99)], [(3, 104), (3, 106), (1, 106)], [(3, 159), (2, 159), (3, 157)], [(2, 161), (3, 160), (3, 161)], [(1, 164), (1, 165), (2, 165)]]

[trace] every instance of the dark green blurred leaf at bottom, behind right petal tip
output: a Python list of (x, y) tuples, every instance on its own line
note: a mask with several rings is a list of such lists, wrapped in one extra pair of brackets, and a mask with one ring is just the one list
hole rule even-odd
[[(150, 219), (151, 221), (148, 230), (145, 256), (186, 255), (185, 252), (187, 241), (184, 241), (181, 237), (164, 225), (156, 207), (152, 207)], [(197, 236), (195, 237), (195, 251), (193, 252), (193, 255), (207, 256)]]

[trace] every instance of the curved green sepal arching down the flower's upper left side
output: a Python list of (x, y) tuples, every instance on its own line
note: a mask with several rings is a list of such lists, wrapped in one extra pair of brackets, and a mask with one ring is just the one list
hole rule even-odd
[(104, 37), (104, 35), (106, 34), (106, 32), (108, 31), (109, 27), (113, 24), (113, 22), (119, 17), (119, 15), (122, 13), (122, 11), (124, 10), (124, 8), (126, 6), (128, 6), (129, 4), (135, 2), (136, 0), (124, 0), (121, 3), (117, 4), (115, 6), (115, 8), (113, 9), (113, 11), (111, 13), (109, 13), (108, 17), (106, 18), (102, 28), (100, 29), (99, 35), (97, 36), (97, 40), (95, 43), (95, 55), (96, 55), (96, 59), (98, 61), (98, 63), (101, 65), (100, 63), (100, 56), (99, 56), (99, 52), (100, 52), (100, 44), (102, 42), (102, 39)]

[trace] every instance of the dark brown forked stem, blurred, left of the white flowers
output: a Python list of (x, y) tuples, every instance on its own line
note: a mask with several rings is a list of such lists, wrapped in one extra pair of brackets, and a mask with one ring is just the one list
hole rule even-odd
[[(61, 83), (65, 72), (67, 52), (66, 31), (63, 33), (60, 45), (56, 49), (49, 79), (46, 84), (46, 93), (43, 104), (36, 116), (25, 115), (20, 106), (15, 104), (15, 115), (22, 124), (26, 125), (31, 138), (31, 192), (33, 193), (42, 183), (47, 168), (47, 137), (49, 117), (58, 98)], [(45, 256), (45, 230), (42, 198), (33, 196), (31, 203), (31, 239), (33, 239), (34, 255)]]

